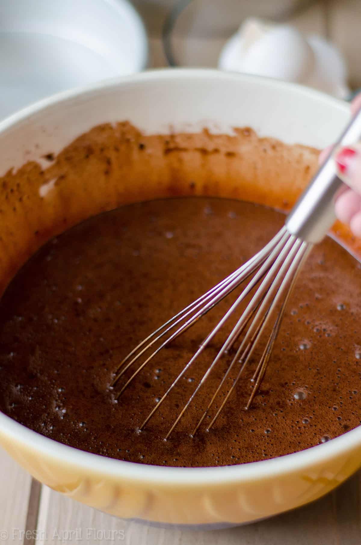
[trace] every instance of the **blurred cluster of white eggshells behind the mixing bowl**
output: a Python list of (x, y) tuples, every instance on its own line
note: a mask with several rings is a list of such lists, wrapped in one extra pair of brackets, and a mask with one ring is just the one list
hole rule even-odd
[(335, 46), (288, 25), (247, 20), (222, 50), (219, 68), (274, 77), (346, 98), (346, 66)]

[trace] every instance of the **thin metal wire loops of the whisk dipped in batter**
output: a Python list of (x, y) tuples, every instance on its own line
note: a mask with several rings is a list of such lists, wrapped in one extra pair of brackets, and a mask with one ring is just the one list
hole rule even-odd
[[(227, 336), (226, 341), (222, 344), (222, 347), (216, 354), (215, 358), (204, 372), (202, 378), (198, 381), (194, 391), (191, 393), (188, 401), (184, 404), (182, 410), (180, 410), (176, 420), (172, 423), (171, 428), (167, 432), (165, 439), (168, 439), (171, 433), (174, 431), (179, 421), (182, 419), (185, 411), (189, 408), (191, 402), (200, 390), (202, 385), (208, 379), (210, 373), (212, 373), (216, 364), (237, 342), (238, 338), (245, 335), (240, 341), (236, 353), (233, 355), (230, 365), (227, 366), (225, 373), (222, 376), (220, 384), (216, 388), (212, 395), (212, 398), (207, 404), (200, 420), (198, 420), (192, 435), (194, 435), (200, 428), (202, 422), (208, 415), (210, 409), (213, 407), (215, 400), (218, 398), (225, 381), (230, 377), (230, 373), (236, 365), (239, 365), (236, 378), (233, 379), (232, 386), (226, 392), (224, 399), (222, 400), (220, 407), (216, 410), (213, 419), (207, 426), (207, 430), (212, 428), (215, 421), (218, 419), (221, 411), (225, 407), (228, 398), (236, 388), (240, 377), (242, 376), (246, 366), (248, 366), (254, 350), (261, 339), (261, 336), (269, 323), (270, 318), (277, 305), (282, 301), (280, 311), (275, 319), (273, 329), (268, 337), (266, 346), (264, 347), (260, 361), (258, 362), (252, 381), (254, 381), (254, 387), (246, 404), (248, 409), (256, 395), (264, 374), (266, 373), (268, 361), (276, 337), (278, 335), (282, 318), (284, 316), (285, 307), (292, 292), (294, 283), (304, 259), (308, 255), (310, 247), (312, 245), (302, 242), (294, 235), (290, 234), (286, 227), (282, 228), (275, 237), (261, 250), (256, 253), (254, 257), (249, 259), (248, 262), (239, 267), (236, 271), (228, 275), (224, 280), (216, 284), (208, 292), (200, 296), (196, 301), (186, 306), (182, 311), (178, 312), (173, 318), (161, 325), (145, 340), (139, 343), (128, 355), (124, 358), (117, 367), (115, 372), (115, 378), (113, 378), (112, 385), (115, 386), (119, 379), (125, 372), (135, 364), (143, 354), (145, 354), (150, 348), (160, 341), (160, 345), (155, 348), (150, 355), (141, 363), (139, 367), (131, 374), (130, 378), (125, 381), (121, 390), (118, 393), (118, 398), (122, 395), (124, 390), (129, 386), (136, 376), (145, 368), (145, 366), (151, 361), (163, 348), (165, 348), (170, 342), (175, 340), (179, 335), (183, 334), (192, 325), (202, 318), (204, 314), (209, 312), (215, 305), (217, 305), (222, 299), (229, 295), (234, 289), (236, 289), (242, 282), (251, 277), (248, 284), (244, 287), (242, 292), (237, 296), (233, 304), (225, 312), (224, 316), (220, 319), (218, 324), (210, 331), (210, 333), (204, 338), (195, 354), (186, 362), (182, 371), (172, 381), (171, 385), (167, 388), (164, 395), (159, 399), (157, 405), (153, 407), (146, 419), (142, 422), (139, 430), (142, 431), (147, 425), (149, 420), (153, 417), (156, 411), (159, 410), (165, 399), (170, 395), (173, 388), (179, 383), (179, 380), (184, 377), (185, 373), (189, 370), (190, 366), (194, 364), (195, 360), (202, 354), (204, 349), (207, 348), (210, 341), (214, 338), (220, 329), (225, 325), (228, 318), (237, 310), (240, 303), (256, 288), (255, 293), (251, 296), (250, 301), (246, 305), (246, 308), (242, 315), (233, 326), (230, 334)], [(288, 288), (288, 289), (287, 289)], [(248, 328), (248, 329), (247, 329)], [(164, 338), (165, 337), (165, 338)], [(164, 340), (163, 340), (164, 339)], [(162, 341), (163, 340), (163, 341)]]

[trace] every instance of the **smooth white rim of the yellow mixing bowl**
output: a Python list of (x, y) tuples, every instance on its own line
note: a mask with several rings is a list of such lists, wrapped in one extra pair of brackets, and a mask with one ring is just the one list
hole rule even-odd
[[(32, 105), (26, 106), (0, 122), (0, 135), (8, 129), (14, 128), (17, 124), (27, 122), (35, 114), (43, 112), (53, 105), (62, 105), (67, 101), (84, 99), (87, 96), (97, 95), (116, 87), (124, 87), (128, 84), (142, 84), (148, 81), (171, 81), (186, 80), (196, 81), (199, 79), (225, 80), (226, 82), (252, 82), (257, 81), (260, 85), (268, 88), (287, 89), (293, 95), (305, 95), (328, 102), (330, 106), (339, 108), (347, 114), (349, 106), (346, 102), (334, 98), (309, 87), (298, 84), (282, 82), (263, 76), (237, 74), (233, 72), (221, 72), (214, 69), (157, 69), (140, 72), (129, 76), (122, 76), (104, 80), (86, 87), (71, 89), (52, 95)], [(114, 478), (131, 479), (138, 482), (153, 482), (159, 485), (177, 486), (209, 486), (225, 485), (226, 483), (240, 483), (256, 481), (265, 478), (302, 471), (310, 465), (324, 464), (331, 458), (345, 455), (351, 449), (361, 445), (361, 426), (354, 428), (339, 437), (336, 437), (325, 444), (309, 447), (303, 451), (294, 452), (277, 458), (249, 462), (244, 464), (227, 465), (221, 467), (163, 467), (135, 462), (127, 462), (91, 452), (85, 452), (75, 447), (58, 443), (54, 439), (45, 437), (32, 429), (23, 426), (11, 417), (0, 412), (0, 432), (3, 437), (11, 438), (14, 443), (21, 443), (29, 450), (41, 452), (47, 457), (53, 458), (61, 464), (68, 464), (77, 469), (82, 468)]]

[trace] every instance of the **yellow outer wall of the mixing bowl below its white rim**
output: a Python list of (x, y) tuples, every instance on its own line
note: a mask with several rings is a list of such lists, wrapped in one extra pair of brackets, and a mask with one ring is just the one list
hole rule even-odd
[[(85, 470), (30, 450), (0, 432), (2, 446), (35, 479), (83, 504), (121, 518), (177, 525), (244, 524), (304, 505), (338, 486), (360, 467), (361, 446), (327, 463), (267, 479), (204, 485), (135, 482)], [(292, 455), (291, 455), (292, 456)]]

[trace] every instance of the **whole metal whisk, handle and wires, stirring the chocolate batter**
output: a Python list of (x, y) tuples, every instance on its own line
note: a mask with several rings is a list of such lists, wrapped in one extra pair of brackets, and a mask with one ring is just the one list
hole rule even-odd
[[(170, 434), (177, 426), (179, 420), (184, 415), (186, 409), (188, 409), (198, 390), (207, 380), (207, 377), (212, 372), (218, 361), (222, 358), (222, 356), (229, 352), (234, 343), (244, 334), (244, 337), (242, 341), (240, 341), (239, 347), (228, 365), (218, 388), (214, 392), (212, 398), (210, 398), (207, 407), (204, 408), (200, 420), (196, 423), (196, 426), (192, 430), (192, 435), (197, 432), (197, 429), (200, 427), (204, 418), (208, 415), (209, 410), (212, 408), (215, 399), (219, 395), (222, 386), (224, 385), (225, 380), (229, 376), (232, 369), (236, 371), (238, 369), (238, 373), (236, 378), (233, 380), (232, 386), (226, 393), (212, 420), (210, 420), (207, 430), (214, 425), (214, 422), (218, 418), (219, 414), (227, 403), (228, 398), (231, 396), (240, 377), (242, 376), (245, 367), (249, 364), (256, 346), (261, 342), (261, 337), (267, 324), (272, 324), (270, 320), (272, 320), (272, 317), (275, 316), (275, 318), (273, 318), (272, 331), (266, 340), (261, 359), (258, 362), (257, 368), (251, 379), (254, 383), (254, 387), (245, 408), (248, 409), (250, 407), (252, 400), (262, 383), (264, 374), (266, 373), (272, 348), (284, 316), (287, 301), (290, 298), (292, 288), (297, 280), (302, 264), (308, 256), (312, 246), (319, 243), (325, 237), (329, 228), (335, 221), (334, 198), (342, 185), (342, 181), (335, 173), (332, 156), (334, 149), (339, 145), (348, 145), (359, 139), (361, 135), (360, 112), (361, 110), (352, 119), (351, 123), (347, 126), (344, 133), (339, 138), (338, 143), (336, 143), (335, 147), (330, 151), (328, 158), (316, 173), (303, 195), (299, 198), (299, 201), (292, 209), (291, 213), (288, 215), (285, 226), (282, 227), (280, 232), (276, 234), (275, 237), (260, 252), (249, 259), (248, 262), (243, 264), (242, 267), (239, 267), (239, 269), (232, 272), (231, 275), (222, 280), (207, 293), (204, 293), (196, 301), (185, 307), (182, 311), (176, 314), (176, 316), (173, 316), (173, 318), (161, 325), (160, 328), (138, 344), (138, 346), (135, 347), (118, 366), (112, 380), (113, 387), (120, 383), (124, 373), (128, 371), (131, 366), (136, 364), (136, 362), (139, 364), (141, 361), (141, 364), (136, 367), (130, 378), (127, 381), (124, 381), (124, 384), (120, 387), (117, 394), (117, 397), (119, 398), (131, 381), (135, 379), (135, 377), (142, 371), (149, 361), (151, 361), (159, 353), (161, 349), (175, 340), (175, 338), (177, 338), (180, 334), (188, 330), (211, 308), (217, 305), (247, 278), (250, 278), (250, 281), (248, 284), (246, 284), (243, 292), (240, 293), (236, 301), (234, 301), (215, 328), (210, 331), (209, 335), (204, 339), (196, 353), (186, 363), (182, 372), (180, 372), (175, 380), (173, 380), (173, 383), (166, 390), (163, 397), (160, 398), (159, 402), (157, 405), (155, 405), (153, 410), (151, 410), (145, 421), (141, 423), (139, 427), (140, 430), (147, 425), (155, 411), (159, 409), (160, 405), (169, 396), (170, 392), (178, 384), (179, 380), (184, 376), (189, 367), (194, 364), (198, 356), (203, 352), (203, 350), (208, 346), (209, 342), (227, 322), (228, 318), (230, 318), (234, 311), (236, 311), (239, 304), (246, 298), (246, 296), (250, 295), (252, 291), (254, 291), (249, 303), (246, 305), (245, 311), (237, 320), (236, 325), (234, 325), (231, 333), (226, 338), (215, 359), (212, 361), (207, 371), (203, 374), (203, 377), (196, 385), (190, 398), (185, 403), (182, 410), (180, 410), (177, 419), (175, 422), (173, 422), (169, 432), (166, 434), (165, 439), (170, 437)], [(275, 313), (274, 311), (277, 309), (278, 313)], [(159, 346), (157, 346), (158, 344)], [(155, 346), (157, 346), (157, 348), (155, 348)], [(152, 347), (153, 350), (148, 352), (148, 350)]]

